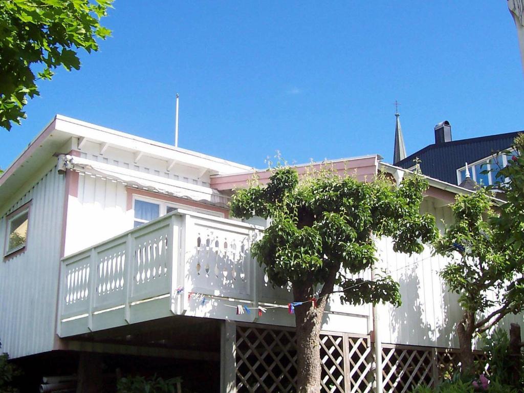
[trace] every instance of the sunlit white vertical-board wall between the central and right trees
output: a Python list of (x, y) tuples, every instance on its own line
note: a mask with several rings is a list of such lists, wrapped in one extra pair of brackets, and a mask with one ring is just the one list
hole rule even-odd
[[(431, 199), (421, 205), (423, 213), (435, 216), (436, 224), (443, 231), (444, 224), (451, 222), (449, 207), (435, 208)], [(432, 256), (427, 246), (422, 254), (395, 253), (391, 239), (382, 239), (379, 246), (380, 266), (400, 283), (402, 305), (380, 305), (380, 317), (384, 326), (386, 343), (455, 347), (454, 324), (460, 317), (457, 296), (447, 291), (439, 271), (446, 259)]]

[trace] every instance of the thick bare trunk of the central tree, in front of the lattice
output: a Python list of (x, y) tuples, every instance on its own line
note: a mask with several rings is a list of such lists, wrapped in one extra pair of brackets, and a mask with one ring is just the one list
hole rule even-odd
[[(336, 271), (335, 271), (336, 274)], [(302, 288), (293, 286), (293, 297), (295, 301), (308, 301), (298, 305), (295, 309), (295, 322), (297, 325), (297, 366), (298, 386), (297, 393), (319, 393), (322, 366), (320, 362), (320, 328), (322, 315), (328, 296), (326, 293), (333, 291), (333, 279), (324, 283), (320, 293), (321, 298), (316, 302), (316, 307), (309, 302), (312, 287)]]

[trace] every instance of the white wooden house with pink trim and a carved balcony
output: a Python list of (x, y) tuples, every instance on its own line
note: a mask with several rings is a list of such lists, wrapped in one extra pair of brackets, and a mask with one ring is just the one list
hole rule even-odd
[[(399, 182), (406, 172), (377, 155), (330, 166), (363, 181), (384, 170)], [(234, 188), (252, 175), (57, 115), (0, 177), (2, 350), (40, 377), (78, 373), (79, 391), (102, 384), (102, 374), (155, 372), (183, 375), (194, 391), (290, 391), (291, 293), (272, 288), (250, 256), (265, 221), (228, 215)], [(269, 175), (258, 171), (261, 183)], [(422, 210), (443, 230), (455, 194), (468, 191), (429, 182)], [(400, 282), (403, 304), (330, 299), (323, 391), (369, 392), (374, 373), (384, 391), (407, 391), (433, 384), (452, 359), (461, 312), (438, 276), (446, 260), (429, 247), (395, 253), (387, 238), (377, 257)]]

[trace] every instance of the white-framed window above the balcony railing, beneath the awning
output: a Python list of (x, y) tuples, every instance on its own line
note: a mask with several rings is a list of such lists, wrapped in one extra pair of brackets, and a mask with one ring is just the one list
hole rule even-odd
[(171, 213), (177, 209), (191, 210), (193, 212), (204, 213), (209, 215), (214, 215), (217, 217), (224, 217), (224, 214), (221, 212), (215, 212), (212, 210), (199, 209), (194, 206), (183, 205), (174, 202), (164, 202), (155, 200), (153, 198), (147, 198), (145, 196), (135, 197), (134, 198), (135, 206), (135, 221), (134, 227), (136, 228), (139, 225), (142, 225), (148, 221), (157, 219), (162, 215)]

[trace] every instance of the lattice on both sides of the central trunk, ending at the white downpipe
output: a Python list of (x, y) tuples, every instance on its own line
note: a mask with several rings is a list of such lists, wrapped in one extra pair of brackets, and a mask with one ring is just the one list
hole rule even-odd
[[(292, 329), (277, 330), (237, 325), (236, 332), (238, 393), (296, 391), (297, 343)], [(321, 391), (370, 392), (370, 351), (368, 337), (321, 334)]]

